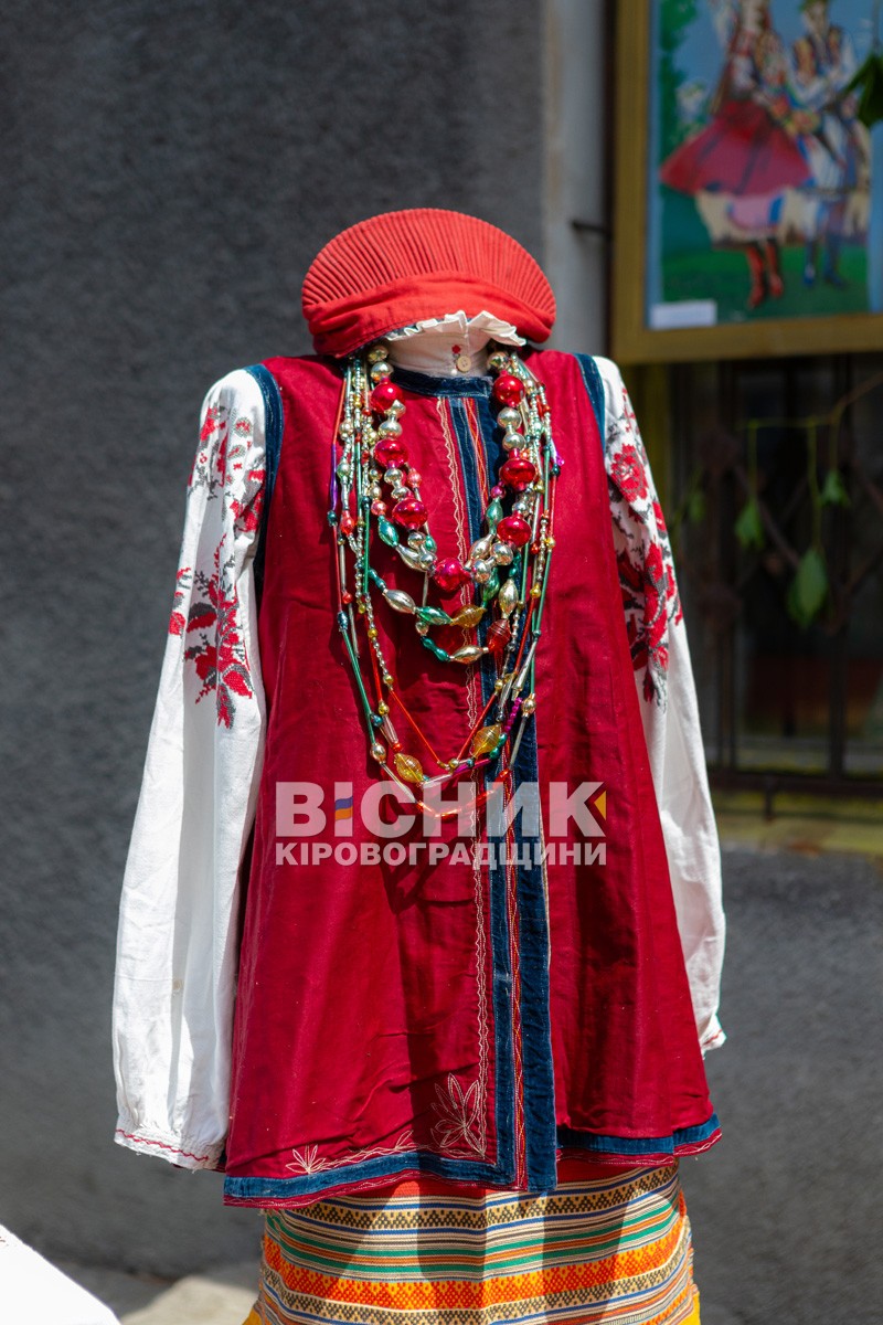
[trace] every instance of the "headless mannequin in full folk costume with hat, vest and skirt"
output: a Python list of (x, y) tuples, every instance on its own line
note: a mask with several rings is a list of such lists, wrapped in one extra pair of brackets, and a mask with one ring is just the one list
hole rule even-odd
[[(466, 276), (447, 257), (458, 244)], [(379, 284), (383, 261), (395, 269)], [(451, 295), (457, 311), (432, 311)], [(698, 1320), (676, 1158), (718, 1137), (700, 1053), (723, 1040), (719, 856), (674, 566), (618, 370), (526, 344), (553, 317), (539, 268), (458, 213), (391, 213), (344, 232), (314, 264), (304, 307), (324, 356), (232, 374), (203, 412), (120, 917), (118, 1140), (222, 1166), (225, 1200), (267, 1211), (256, 1321), (462, 1309), (471, 1322), (498, 1318), (500, 1304), (507, 1320), (536, 1318), (537, 1295), (581, 1313), (563, 1318), (621, 1308)], [(349, 390), (359, 372), (387, 392), (360, 425), (380, 466), (364, 506), (347, 461), (352, 400), (356, 413), (367, 400), (367, 387)], [(524, 399), (508, 450), (496, 382)], [(369, 466), (360, 445), (355, 464)], [(545, 492), (530, 458), (539, 447), (564, 462)], [(553, 489), (557, 507), (543, 506)], [(414, 504), (426, 523), (405, 543)], [(467, 550), (482, 504), (502, 558), (490, 570), (481, 538)], [(545, 533), (519, 549), (524, 579), (506, 610), (507, 578), (520, 574), (506, 535), (523, 515)], [(425, 608), (412, 594), (421, 580)], [(524, 636), (534, 623), (536, 659), (560, 661), (553, 676), (516, 665), (524, 689), (506, 710), (520, 680), (504, 684), (515, 623)], [(482, 700), (491, 717), (499, 705), (496, 726)], [(433, 770), (463, 729), (471, 757), (442, 755)], [(590, 851), (567, 815), (565, 840), (549, 840), (561, 795), (551, 788), (571, 768)], [(530, 814), (516, 816), (515, 865), (496, 864), (487, 798), (496, 787), (506, 806), (524, 799), (531, 770), (545, 827), (531, 836)], [(332, 820), (304, 791), (323, 780)], [(413, 865), (405, 845), (372, 856), (389, 816), (372, 832), (356, 807), (364, 820), (385, 798), (393, 828), (417, 808), (426, 827), (433, 783), (466, 807), (469, 851), (451, 811), (429, 828), (436, 868), (428, 847)], [(311, 816), (327, 841), (298, 832)], [(543, 1244), (555, 1214), (572, 1232), (552, 1285)], [(523, 1260), (511, 1259), (514, 1222)], [(316, 1240), (330, 1224), (338, 1252)], [(463, 1227), (482, 1234), (478, 1261)], [(409, 1253), (433, 1238), (454, 1264), (443, 1280)], [(604, 1253), (630, 1238), (634, 1256)], [(353, 1253), (385, 1269), (356, 1283)], [(355, 1316), (336, 1314), (344, 1302)]]

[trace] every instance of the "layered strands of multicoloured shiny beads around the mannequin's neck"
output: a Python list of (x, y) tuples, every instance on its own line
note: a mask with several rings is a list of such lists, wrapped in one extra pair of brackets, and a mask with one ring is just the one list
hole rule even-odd
[[(552, 521), (561, 458), (543, 384), (511, 351), (492, 350), (488, 368), (495, 374), (492, 398), (507, 460), (491, 488), (485, 533), (463, 560), (440, 555), (432, 535), (421, 498), (422, 477), (409, 465), (401, 423), (406, 407), (387, 347), (379, 343), (357, 351), (344, 370), (328, 511), (336, 545), (338, 625), (364, 710), (371, 755), (409, 799), (417, 799), (414, 787), (426, 795), (433, 786), (495, 762), (500, 768), (511, 766), (536, 709), (535, 655), (555, 547)], [(510, 494), (512, 505), (506, 514), (503, 504)], [(372, 564), (375, 534), (422, 579), (416, 598), (389, 588)], [(447, 612), (429, 602), (430, 590), (450, 598), (467, 584), (473, 586), (474, 603)], [(453, 758), (436, 753), (397, 690), (379, 640), (379, 600), (393, 612), (413, 616), (424, 648), (440, 662), (470, 666), (488, 655), (496, 662), (494, 693)], [(367, 648), (360, 647), (360, 623)], [(469, 629), (479, 623), (487, 624), (485, 643), (477, 640), (453, 653), (430, 636), (433, 627)], [(422, 758), (429, 754), (436, 763), (437, 774), (428, 776), (421, 759), (404, 750), (392, 722), (393, 706), (420, 742)]]

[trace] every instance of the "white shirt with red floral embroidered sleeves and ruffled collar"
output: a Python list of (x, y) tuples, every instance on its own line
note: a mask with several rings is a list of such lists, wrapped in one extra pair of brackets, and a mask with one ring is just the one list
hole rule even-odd
[[(408, 367), (451, 374), (467, 346), (482, 371), (494, 322), (391, 342)], [(662, 818), (699, 1041), (718, 1023), (724, 917), (687, 635), (653, 476), (616, 364), (605, 388), (612, 537)], [(432, 367), (429, 367), (432, 364)], [(203, 404), (180, 570), (126, 864), (114, 994), (116, 1140), (188, 1169), (224, 1150), (238, 954), (240, 871), (261, 775), (265, 704), (253, 558), (265, 407), (245, 371)]]

